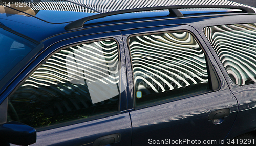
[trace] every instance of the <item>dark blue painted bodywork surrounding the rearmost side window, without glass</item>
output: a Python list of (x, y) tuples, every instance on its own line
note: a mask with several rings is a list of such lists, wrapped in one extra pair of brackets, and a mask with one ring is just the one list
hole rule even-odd
[[(207, 26), (217, 26), (217, 25), (228, 25), (228, 24), (246, 24), (246, 23), (255, 23), (255, 16), (239, 16), (237, 21), (234, 21), (234, 16), (230, 17), (223, 17), (223, 18), (216, 18), (216, 19), (206, 19), (202, 24), (194, 23), (193, 26), (198, 30), (203, 30), (204, 27)], [(222, 20), (222, 21), (221, 21)], [(201, 36), (206, 38), (203, 35), (203, 31), (199, 32)], [(219, 64), (225, 79), (231, 89), (231, 92), (234, 94), (238, 101), (238, 115), (234, 125), (227, 136), (227, 138), (233, 138), (243, 133), (254, 131), (256, 123), (255, 123), (255, 102), (256, 102), (256, 95), (255, 95), (255, 84), (243, 85), (239, 86), (236, 85), (231, 78), (229, 77), (226, 69), (221, 63), (221, 60), (215, 53), (214, 49), (211, 47), (210, 43), (206, 41), (206, 44), (209, 46), (212, 55), (214, 55), (215, 60)]]

